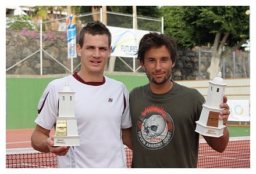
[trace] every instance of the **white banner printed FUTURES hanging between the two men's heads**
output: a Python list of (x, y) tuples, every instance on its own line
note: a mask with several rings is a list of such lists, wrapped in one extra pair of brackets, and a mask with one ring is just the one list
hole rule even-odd
[(112, 34), (111, 56), (134, 57), (143, 35), (150, 31), (107, 26)]

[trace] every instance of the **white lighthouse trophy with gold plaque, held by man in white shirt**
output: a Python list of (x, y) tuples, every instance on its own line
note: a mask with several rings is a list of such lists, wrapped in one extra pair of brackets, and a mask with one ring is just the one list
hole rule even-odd
[(80, 146), (77, 117), (74, 115), (74, 93), (66, 81), (59, 92), (59, 115), (56, 118), (54, 146)]

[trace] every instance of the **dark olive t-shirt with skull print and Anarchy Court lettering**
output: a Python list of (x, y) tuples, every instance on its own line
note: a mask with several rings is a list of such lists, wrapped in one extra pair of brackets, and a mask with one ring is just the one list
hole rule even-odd
[(150, 85), (130, 92), (134, 168), (196, 168), (200, 118), (204, 97), (196, 89), (173, 82), (155, 94)]

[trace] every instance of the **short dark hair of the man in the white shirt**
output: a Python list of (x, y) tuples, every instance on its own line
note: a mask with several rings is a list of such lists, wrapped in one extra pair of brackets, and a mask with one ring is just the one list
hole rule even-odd
[(86, 26), (84, 26), (80, 32), (79, 32), (79, 45), (81, 48), (84, 44), (84, 34), (91, 34), (91, 35), (104, 35), (106, 34), (108, 36), (108, 47), (111, 46), (111, 32), (106, 28), (106, 26), (101, 21), (94, 21), (91, 23), (87, 23)]

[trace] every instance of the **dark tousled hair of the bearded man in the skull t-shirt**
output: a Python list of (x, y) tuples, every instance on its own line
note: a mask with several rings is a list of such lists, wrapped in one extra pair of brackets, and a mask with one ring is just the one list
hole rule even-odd
[(159, 48), (165, 45), (170, 53), (172, 62), (175, 63), (177, 59), (177, 44), (173, 37), (166, 34), (158, 34), (157, 32), (150, 32), (145, 34), (140, 40), (138, 51), (136, 53), (137, 59), (144, 63), (145, 52), (152, 47)]

